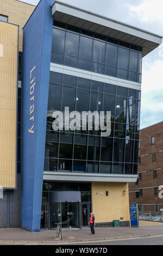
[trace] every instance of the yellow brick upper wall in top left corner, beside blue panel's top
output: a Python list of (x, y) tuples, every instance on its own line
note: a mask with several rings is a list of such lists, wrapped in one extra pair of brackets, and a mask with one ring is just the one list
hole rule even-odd
[[(23, 48), (23, 27), (35, 9), (34, 5), (16, 0), (0, 0), (0, 14), (8, 16), (8, 22), (20, 26), (19, 51)], [(0, 42), (1, 44), (1, 42)]]

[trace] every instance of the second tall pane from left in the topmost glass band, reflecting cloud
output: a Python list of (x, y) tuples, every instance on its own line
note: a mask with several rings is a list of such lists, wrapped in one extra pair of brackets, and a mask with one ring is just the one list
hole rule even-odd
[(66, 32), (65, 54), (78, 57), (79, 35)]

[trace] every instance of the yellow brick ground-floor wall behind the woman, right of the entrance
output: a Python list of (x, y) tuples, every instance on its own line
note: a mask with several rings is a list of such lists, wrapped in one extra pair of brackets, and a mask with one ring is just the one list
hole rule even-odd
[[(92, 182), (92, 210), (95, 222), (112, 222), (113, 220), (129, 221), (128, 183)], [(109, 195), (106, 196), (106, 191)]]

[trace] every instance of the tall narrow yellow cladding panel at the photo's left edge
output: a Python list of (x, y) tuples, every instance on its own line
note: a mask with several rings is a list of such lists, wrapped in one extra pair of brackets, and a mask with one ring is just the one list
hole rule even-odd
[(18, 26), (0, 21), (0, 186), (15, 188)]

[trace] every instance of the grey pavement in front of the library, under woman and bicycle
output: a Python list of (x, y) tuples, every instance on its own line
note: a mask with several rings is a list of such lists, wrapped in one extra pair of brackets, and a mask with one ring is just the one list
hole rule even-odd
[(90, 234), (90, 228), (72, 230), (73, 238), (69, 237), (68, 230), (62, 230), (62, 240), (56, 240), (56, 230), (41, 230), (38, 233), (22, 228), (0, 229), (0, 244), (45, 244), (63, 245), (72, 243), (89, 243), (93, 241), (123, 240), (163, 236), (163, 223), (140, 221), (139, 228), (115, 227), (96, 228), (95, 235)]

